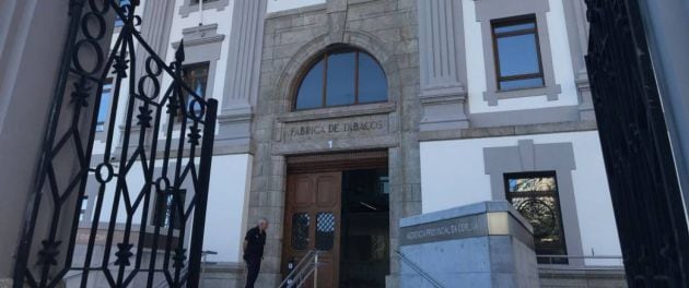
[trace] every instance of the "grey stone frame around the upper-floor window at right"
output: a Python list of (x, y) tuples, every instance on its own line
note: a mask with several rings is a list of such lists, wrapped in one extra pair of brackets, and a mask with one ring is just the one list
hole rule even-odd
[[(483, 59), (486, 63), (486, 92), (483, 100), (489, 106), (497, 106), (498, 100), (546, 96), (549, 101), (557, 100), (562, 88), (554, 80), (554, 69), (552, 64), (552, 52), (550, 47), (550, 36), (548, 33), (548, 20), (546, 13), (550, 11), (548, 0), (532, 1), (476, 1), (476, 20), (481, 23), (481, 39), (483, 45)], [(514, 91), (499, 91), (498, 75), (495, 73), (495, 53), (493, 47), (492, 21), (510, 19), (533, 14), (538, 27), (538, 45), (542, 64), (544, 83), (542, 87), (524, 88)]]

